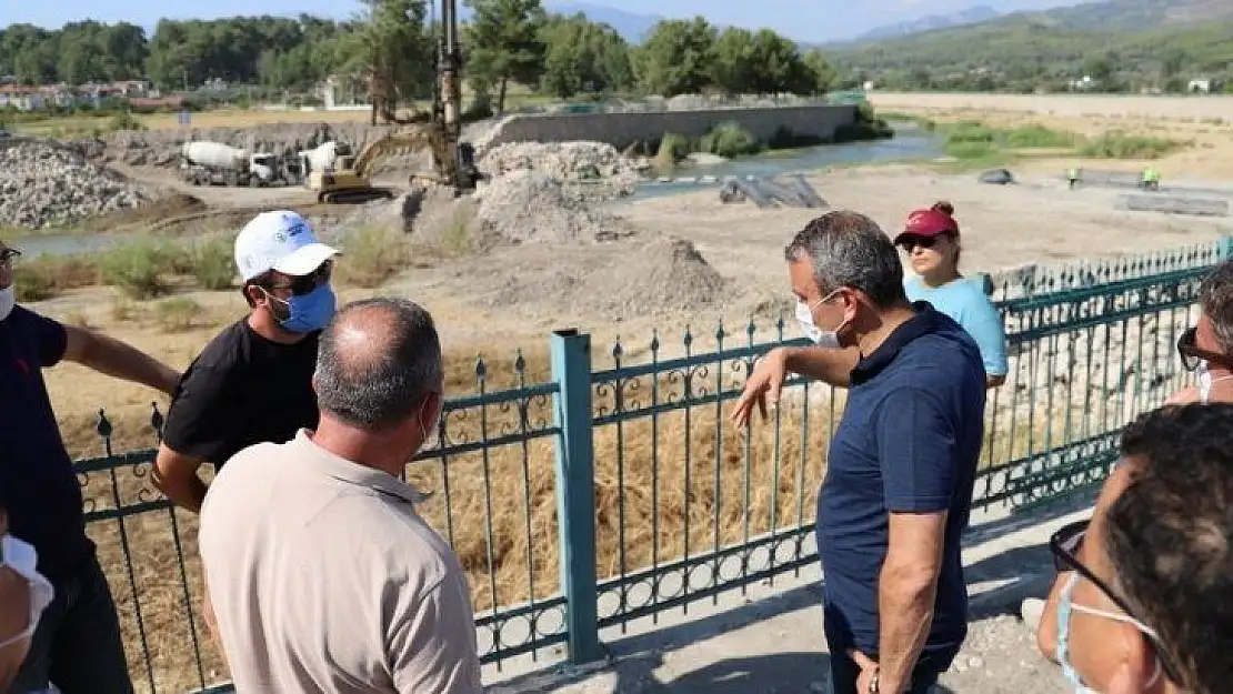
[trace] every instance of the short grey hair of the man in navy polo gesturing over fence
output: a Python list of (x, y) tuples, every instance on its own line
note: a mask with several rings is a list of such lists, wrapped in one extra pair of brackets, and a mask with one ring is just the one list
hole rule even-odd
[(788, 261), (810, 259), (822, 296), (840, 287), (859, 290), (878, 308), (906, 301), (899, 253), (877, 222), (841, 210), (809, 222), (784, 249)]

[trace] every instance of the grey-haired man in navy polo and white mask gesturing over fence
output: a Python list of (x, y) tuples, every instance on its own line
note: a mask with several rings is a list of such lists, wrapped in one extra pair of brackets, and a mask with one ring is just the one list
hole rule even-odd
[(980, 351), (907, 301), (894, 245), (863, 214), (814, 219), (785, 256), (797, 318), (831, 349), (778, 359), (848, 387), (817, 502), (831, 690), (927, 692), (968, 631), (959, 536), (984, 435)]

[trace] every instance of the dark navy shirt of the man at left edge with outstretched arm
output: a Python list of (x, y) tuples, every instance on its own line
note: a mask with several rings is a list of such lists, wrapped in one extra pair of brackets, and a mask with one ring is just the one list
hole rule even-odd
[(94, 550), (43, 382), (42, 370), (64, 357), (67, 340), (64, 325), (21, 306), (0, 320), (0, 505), (9, 531), (35, 546), (38, 571), (52, 581)]

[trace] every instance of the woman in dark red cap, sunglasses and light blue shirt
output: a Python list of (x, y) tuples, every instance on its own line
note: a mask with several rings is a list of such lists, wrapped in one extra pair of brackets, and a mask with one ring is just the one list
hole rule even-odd
[(1001, 314), (985, 296), (980, 282), (959, 274), (959, 224), (954, 207), (937, 202), (907, 216), (895, 245), (907, 253), (916, 277), (904, 282), (907, 298), (927, 301), (946, 313), (975, 340), (985, 362), (989, 387), (1006, 381), (1006, 332)]

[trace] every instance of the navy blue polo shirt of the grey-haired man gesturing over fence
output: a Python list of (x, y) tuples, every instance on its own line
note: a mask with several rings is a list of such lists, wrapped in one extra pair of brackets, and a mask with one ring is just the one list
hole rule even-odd
[(878, 655), (878, 578), (889, 513), (948, 510), (933, 623), (922, 658), (949, 667), (968, 631), (959, 537), (984, 435), (985, 370), (958, 323), (915, 302), (852, 371), (817, 500), (831, 652)]

